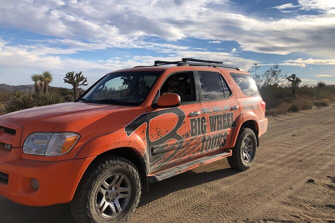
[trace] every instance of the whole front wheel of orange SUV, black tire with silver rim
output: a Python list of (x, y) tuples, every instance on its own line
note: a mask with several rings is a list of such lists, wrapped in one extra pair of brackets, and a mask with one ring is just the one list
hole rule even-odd
[[(127, 191), (121, 191), (125, 188)], [(106, 194), (102, 195), (101, 191)], [(78, 223), (124, 222), (135, 212), (140, 196), (141, 179), (136, 166), (120, 156), (103, 156), (94, 160), (84, 173), (70, 207)]]

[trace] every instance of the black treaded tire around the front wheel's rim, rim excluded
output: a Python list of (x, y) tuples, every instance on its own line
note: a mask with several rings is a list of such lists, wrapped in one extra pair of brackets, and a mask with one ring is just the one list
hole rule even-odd
[[(94, 223), (92, 219), (90, 210), (89, 210), (89, 195), (93, 188), (95, 181), (98, 179), (99, 175), (103, 173), (104, 170), (109, 169), (112, 166), (123, 166), (128, 168), (135, 176), (137, 183), (137, 196), (135, 202), (131, 207), (131, 211), (128, 214), (125, 221), (129, 219), (132, 213), (135, 212), (135, 209), (140, 201), (141, 197), (141, 178), (137, 167), (130, 160), (115, 155), (108, 155), (98, 157), (94, 160), (88, 169), (85, 171), (78, 187), (75, 192), (75, 195), (70, 202), (71, 212), (74, 219), (78, 223)], [(89, 191), (89, 192), (87, 192)], [(124, 221), (124, 222), (125, 222)]]

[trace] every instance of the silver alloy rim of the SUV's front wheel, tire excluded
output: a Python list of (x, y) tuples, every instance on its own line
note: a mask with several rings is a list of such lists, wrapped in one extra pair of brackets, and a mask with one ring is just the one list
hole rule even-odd
[(129, 178), (123, 173), (113, 173), (100, 182), (94, 202), (97, 213), (103, 218), (113, 218), (127, 207), (131, 196)]

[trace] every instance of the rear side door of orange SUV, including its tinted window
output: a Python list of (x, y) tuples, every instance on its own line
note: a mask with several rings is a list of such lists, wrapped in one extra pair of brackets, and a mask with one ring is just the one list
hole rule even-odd
[(201, 118), (205, 117), (207, 123), (200, 153), (206, 155), (229, 146), (240, 107), (219, 70), (198, 70), (196, 74), (200, 83)]

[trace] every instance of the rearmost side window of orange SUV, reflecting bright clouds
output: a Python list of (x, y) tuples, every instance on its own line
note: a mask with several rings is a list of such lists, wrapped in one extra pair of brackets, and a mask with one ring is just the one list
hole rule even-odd
[(230, 73), (239, 88), (246, 96), (258, 96), (259, 91), (255, 80), (248, 74)]

